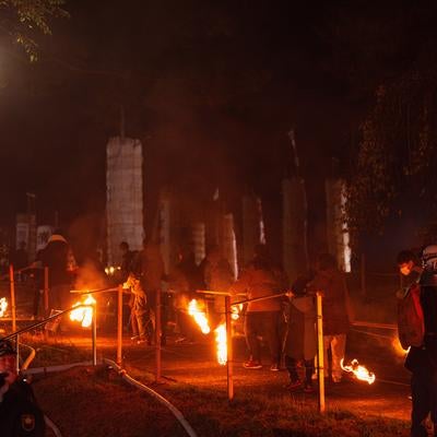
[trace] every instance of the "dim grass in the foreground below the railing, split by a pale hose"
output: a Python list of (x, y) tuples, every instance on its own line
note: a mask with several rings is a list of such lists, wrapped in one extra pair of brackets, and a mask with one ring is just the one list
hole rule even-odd
[[(151, 386), (153, 387), (153, 385)], [(128, 386), (114, 370), (78, 367), (38, 377), (38, 400), (64, 436), (185, 436), (170, 412)], [(241, 390), (229, 403), (224, 391), (187, 383), (153, 387), (177, 406), (198, 436), (408, 436), (405, 421), (329, 409), (281, 392)]]

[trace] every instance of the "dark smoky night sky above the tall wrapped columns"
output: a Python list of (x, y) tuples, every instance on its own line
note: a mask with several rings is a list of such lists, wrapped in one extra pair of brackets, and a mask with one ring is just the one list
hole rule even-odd
[(26, 191), (39, 223), (102, 214), (123, 107), (144, 146), (147, 222), (165, 185), (199, 199), (220, 187), (231, 210), (253, 191), (276, 220), (294, 126), (317, 227), (331, 158), (351, 172), (376, 85), (414, 59), (435, 16), (432, 2), (349, 3), (74, 0), (36, 63), (0, 39), (1, 221)]

